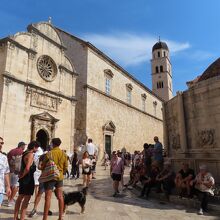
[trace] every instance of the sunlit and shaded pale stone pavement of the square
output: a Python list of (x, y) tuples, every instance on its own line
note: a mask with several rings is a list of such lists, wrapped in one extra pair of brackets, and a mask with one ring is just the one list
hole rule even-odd
[[(128, 169), (126, 173), (128, 174)], [(80, 214), (80, 207), (78, 204), (69, 206), (65, 220), (77, 219), (77, 220), (220, 220), (219, 216), (206, 215), (198, 216), (195, 209), (186, 210), (183, 206), (175, 204), (160, 203), (157, 200), (144, 200), (137, 197), (137, 191), (126, 190), (122, 191), (117, 198), (112, 197), (112, 181), (109, 178), (109, 170), (104, 171), (104, 168), (98, 166), (97, 179), (93, 180), (89, 188), (86, 213)], [(125, 182), (128, 179), (128, 175), (125, 177)], [(65, 191), (75, 191), (80, 188), (82, 179), (79, 180), (65, 180)], [(39, 206), (38, 215), (33, 219), (42, 219), (44, 198)], [(31, 201), (28, 210), (33, 207), (33, 200)], [(51, 210), (53, 216), (48, 219), (58, 219), (58, 205), (55, 196), (52, 198)], [(211, 213), (213, 214), (213, 213)], [(9, 220), (12, 219), (13, 208), (3, 206), (0, 210), (0, 219)]]

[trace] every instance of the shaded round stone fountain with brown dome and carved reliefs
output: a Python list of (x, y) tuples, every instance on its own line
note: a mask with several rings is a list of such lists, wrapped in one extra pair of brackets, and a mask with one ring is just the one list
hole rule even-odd
[(220, 59), (164, 104), (164, 145), (178, 170), (206, 164), (220, 182)]

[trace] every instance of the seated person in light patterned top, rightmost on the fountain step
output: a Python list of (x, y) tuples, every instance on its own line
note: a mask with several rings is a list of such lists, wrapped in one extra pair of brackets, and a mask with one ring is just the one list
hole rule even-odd
[(199, 166), (199, 173), (195, 180), (191, 181), (191, 185), (193, 184), (194, 192), (201, 202), (198, 214), (203, 215), (203, 212), (207, 212), (209, 195), (214, 195), (213, 186), (215, 184), (215, 180), (212, 174), (207, 171), (206, 165)]

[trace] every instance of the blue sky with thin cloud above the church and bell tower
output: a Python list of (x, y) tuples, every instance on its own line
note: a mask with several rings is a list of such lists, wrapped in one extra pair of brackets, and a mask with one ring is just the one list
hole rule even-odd
[(48, 20), (90, 41), (151, 88), (151, 48), (171, 52), (174, 94), (220, 55), (219, 0), (1, 0), (0, 37)]

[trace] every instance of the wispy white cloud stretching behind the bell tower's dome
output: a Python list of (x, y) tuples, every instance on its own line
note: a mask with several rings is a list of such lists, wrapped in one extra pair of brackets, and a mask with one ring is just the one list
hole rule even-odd
[[(151, 59), (151, 50), (156, 37), (151, 35), (135, 35), (125, 32), (115, 34), (84, 34), (82, 38), (91, 42), (101, 51), (122, 65), (138, 65)], [(186, 50), (190, 44), (164, 39), (171, 54)]]

